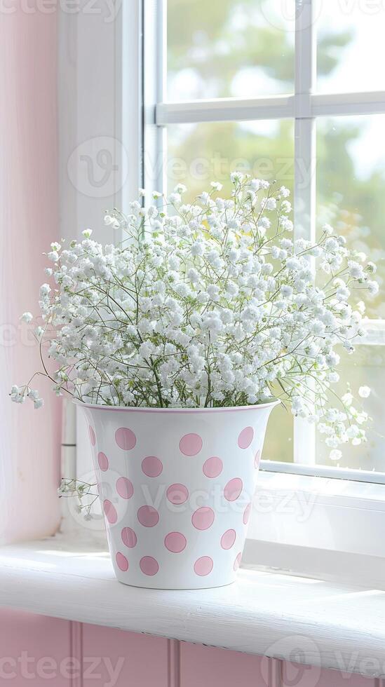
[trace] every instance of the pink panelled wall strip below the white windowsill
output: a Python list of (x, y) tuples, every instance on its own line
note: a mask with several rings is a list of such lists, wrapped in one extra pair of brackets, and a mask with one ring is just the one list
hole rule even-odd
[[(356, 651), (352, 647), (352, 655)], [(13, 687), (379, 686), (357, 674), (274, 664), (200, 644), (0, 611), (0, 683), (11, 679)]]

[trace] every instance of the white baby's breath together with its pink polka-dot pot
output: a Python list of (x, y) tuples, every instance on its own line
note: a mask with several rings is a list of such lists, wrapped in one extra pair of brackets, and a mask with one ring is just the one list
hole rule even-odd
[[(332, 459), (365, 441), (367, 414), (333, 385), (339, 348), (365, 334), (374, 264), (331, 226), (294, 240), (285, 187), (239, 172), (231, 183), (230, 198), (212, 182), (194, 203), (182, 184), (141, 191), (127, 216), (104, 218), (119, 243), (86, 229), (47, 255), (36, 374), (86, 413), (123, 583), (234, 580), (277, 402), (318, 424)], [(43, 404), (32, 380), (11, 397)]]

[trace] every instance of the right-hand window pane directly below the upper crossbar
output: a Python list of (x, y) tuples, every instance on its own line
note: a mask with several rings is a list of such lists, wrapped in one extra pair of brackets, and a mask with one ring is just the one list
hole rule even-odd
[(332, 224), (349, 248), (377, 263), (380, 288), (367, 296), (370, 318), (385, 318), (384, 127), (384, 115), (318, 120), (318, 224)]

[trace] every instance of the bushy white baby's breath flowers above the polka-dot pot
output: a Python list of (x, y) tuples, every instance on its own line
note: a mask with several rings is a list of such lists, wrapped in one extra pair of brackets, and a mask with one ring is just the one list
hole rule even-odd
[[(281, 397), (320, 424), (333, 451), (365, 440), (365, 414), (349, 399), (331, 408), (327, 398), (339, 380), (336, 347), (351, 352), (364, 333), (361, 292), (377, 291), (374, 264), (328, 225), (316, 245), (293, 240), (285, 187), (239, 172), (231, 182), (231, 198), (217, 197), (213, 182), (194, 204), (183, 202), (182, 184), (167, 198), (154, 193), (147, 208), (141, 191), (127, 217), (105, 217), (126, 232), (121, 245), (96, 243), (90, 229), (68, 247), (51, 245), (35, 331), (57, 371), (44, 374), (56, 393), (97, 404), (221, 407)], [(39, 404), (33, 394), (13, 389), (14, 400)]]

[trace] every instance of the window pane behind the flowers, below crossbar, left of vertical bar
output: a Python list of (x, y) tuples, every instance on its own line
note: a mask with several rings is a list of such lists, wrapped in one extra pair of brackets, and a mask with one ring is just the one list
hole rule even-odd
[[(186, 184), (186, 200), (222, 182), (229, 193), (234, 170), (288, 186), (294, 183), (292, 121), (180, 124), (168, 127), (168, 190)], [(292, 415), (283, 407), (273, 410), (274, 421), (264, 444), (264, 458), (292, 462)], [(276, 428), (279, 426), (279, 432)]]

